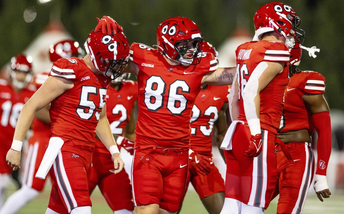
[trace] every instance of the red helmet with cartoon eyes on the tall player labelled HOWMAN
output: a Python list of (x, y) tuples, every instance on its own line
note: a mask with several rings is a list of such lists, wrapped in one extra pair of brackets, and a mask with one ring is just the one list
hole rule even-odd
[[(302, 42), (304, 31), (297, 28), (301, 20), (295, 11), (287, 4), (271, 2), (259, 8), (253, 17), (256, 36), (261, 39), (261, 35), (276, 31), (286, 38), (286, 46), (292, 48), (294, 38)], [(298, 31), (298, 32), (297, 32)]]

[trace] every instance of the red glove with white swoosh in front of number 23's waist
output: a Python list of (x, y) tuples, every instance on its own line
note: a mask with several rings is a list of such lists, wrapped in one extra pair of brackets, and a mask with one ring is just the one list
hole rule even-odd
[(189, 163), (196, 169), (197, 173), (208, 175), (211, 171), (210, 165), (213, 164), (213, 159), (192, 152), (189, 155)]

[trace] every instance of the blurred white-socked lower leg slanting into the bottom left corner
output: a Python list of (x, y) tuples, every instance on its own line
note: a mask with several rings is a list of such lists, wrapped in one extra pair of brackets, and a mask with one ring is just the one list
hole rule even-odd
[(26, 203), (34, 199), (39, 191), (23, 185), (18, 191), (14, 192), (1, 207), (0, 214), (17, 213)]

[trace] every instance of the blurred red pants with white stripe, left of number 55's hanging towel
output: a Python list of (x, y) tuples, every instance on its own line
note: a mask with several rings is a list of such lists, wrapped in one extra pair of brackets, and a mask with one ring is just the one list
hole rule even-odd
[(35, 175), (42, 162), (48, 144), (49, 135), (33, 133), (29, 139), (29, 151), (25, 162), (23, 185), (37, 191), (42, 191), (45, 183), (45, 179), (36, 178)]

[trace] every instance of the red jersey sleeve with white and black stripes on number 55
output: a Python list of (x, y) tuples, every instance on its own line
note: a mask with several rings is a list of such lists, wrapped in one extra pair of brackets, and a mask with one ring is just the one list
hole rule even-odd
[(76, 63), (78, 62), (74, 59), (58, 59), (56, 62), (53, 63), (53, 67), (51, 68), (49, 76), (58, 76), (75, 82), (77, 80), (77, 77), (75, 75), (73, 67)]

